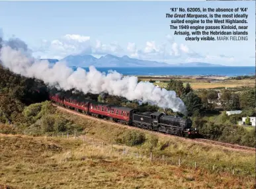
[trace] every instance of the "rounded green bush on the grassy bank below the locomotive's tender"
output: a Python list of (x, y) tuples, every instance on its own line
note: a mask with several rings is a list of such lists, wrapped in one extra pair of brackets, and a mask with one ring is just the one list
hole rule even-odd
[(117, 143), (123, 143), (130, 146), (140, 145), (144, 143), (145, 140), (146, 136), (144, 133), (134, 130), (124, 132), (122, 135), (115, 139)]

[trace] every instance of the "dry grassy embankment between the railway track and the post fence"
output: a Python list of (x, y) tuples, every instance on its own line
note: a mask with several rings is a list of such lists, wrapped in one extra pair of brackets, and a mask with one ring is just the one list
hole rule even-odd
[[(85, 128), (86, 135), (102, 139), (108, 143), (116, 143), (122, 133), (130, 131), (132, 128), (113, 125), (101, 120), (91, 120), (81, 116), (75, 116), (67, 112), (60, 111), (60, 114)], [(139, 131), (138, 131), (139, 132)], [(179, 159), (186, 165), (193, 166), (196, 162), (198, 166), (212, 170), (212, 167), (218, 167), (218, 170), (235, 172), (255, 176), (255, 153), (235, 151), (220, 146), (196, 143), (195, 141), (169, 137), (167, 135), (155, 135), (147, 131), (145, 133), (147, 140), (142, 145), (137, 146), (140, 153), (145, 155), (153, 153), (154, 157), (169, 157), (171, 161), (177, 163)], [(151, 138), (157, 136), (157, 145), (152, 146)]]

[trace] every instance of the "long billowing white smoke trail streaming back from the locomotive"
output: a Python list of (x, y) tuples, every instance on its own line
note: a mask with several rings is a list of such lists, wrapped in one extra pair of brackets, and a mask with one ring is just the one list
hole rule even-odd
[(0, 52), (0, 63), (14, 73), (41, 79), (48, 85), (64, 90), (77, 89), (85, 94), (108, 93), (123, 96), (128, 100), (149, 102), (187, 115), (186, 106), (176, 97), (175, 91), (157, 88), (149, 82), (138, 83), (137, 77), (123, 77), (116, 71), (101, 73), (93, 66), (87, 72), (81, 68), (73, 71), (65, 62), (50, 65), (46, 60), (40, 61), (30, 56), (27, 46), (19, 40), (5, 43)]

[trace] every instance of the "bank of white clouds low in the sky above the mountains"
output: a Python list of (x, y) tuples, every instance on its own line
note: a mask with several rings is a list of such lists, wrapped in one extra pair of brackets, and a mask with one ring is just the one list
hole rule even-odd
[[(91, 40), (90, 36), (79, 34), (67, 34), (52, 41), (42, 40), (39, 48), (34, 49), (34, 53), (42, 58), (62, 59), (69, 55), (104, 56), (112, 54), (114, 56), (129, 56), (138, 59), (165, 61), (179, 63), (201, 61), (207, 63), (216, 63), (235, 61), (234, 57), (225, 57), (223, 55), (207, 55), (195, 52), (186, 44), (179, 44), (171, 35), (165, 37), (165, 42), (157, 44), (155, 41), (146, 41), (144, 47), (138, 48), (135, 42), (127, 42), (127, 46), (120, 46), (118, 42), (105, 44), (101, 40)], [(214, 58), (213, 58), (214, 57)]]

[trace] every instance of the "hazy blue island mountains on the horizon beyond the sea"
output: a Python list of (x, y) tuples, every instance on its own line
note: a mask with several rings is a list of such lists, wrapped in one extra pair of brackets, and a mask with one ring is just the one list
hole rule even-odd
[[(50, 63), (56, 63), (58, 59), (48, 59)], [(95, 67), (220, 67), (224, 65), (203, 63), (203, 62), (191, 62), (191, 63), (179, 63), (179, 64), (168, 64), (159, 61), (149, 61), (136, 58), (130, 58), (128, 56), (113, 56), (107, 54), (100, 58), (91, 55), (76, 55), (67, 56), (60, 61), (66, 61), (68, 66), (76, 67), (89, 67), (91, 65)]]

